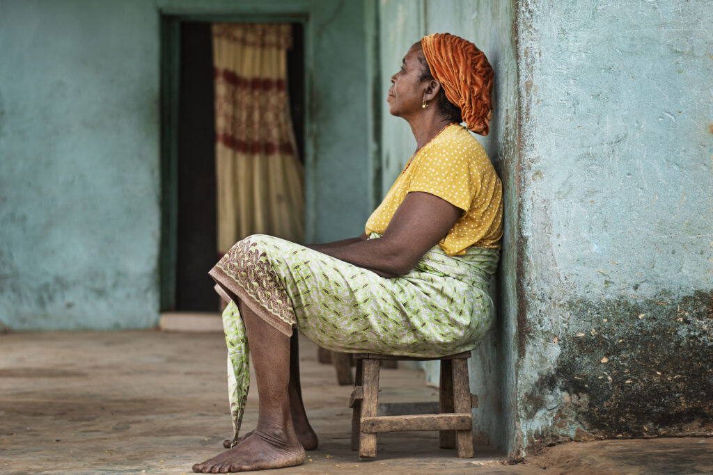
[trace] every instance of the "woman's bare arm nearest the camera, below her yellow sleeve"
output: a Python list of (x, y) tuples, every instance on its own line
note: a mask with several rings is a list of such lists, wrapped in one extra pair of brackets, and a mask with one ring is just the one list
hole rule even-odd
[(380, 239), (365, 239), (363, 234), (316, 250), (382, 277), (401, 276), (411, 271), (426, 251), (446, 236), (462, 214), (462, 209), (445, 199), (430, 193), (411, 192), (396, 209)]

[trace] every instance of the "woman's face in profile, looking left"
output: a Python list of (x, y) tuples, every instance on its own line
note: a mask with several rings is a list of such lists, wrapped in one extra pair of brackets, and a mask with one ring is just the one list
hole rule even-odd
[(389, 97), (386, 98), (391, 115), (407, 118), (421, 110), (428, 81), (421, 81), (424, 64), (419, 61), (419, 56), (424, 56), (424, 52), (421, 43), (416, 43), (404, 56), (399, 72), (391, 76)]

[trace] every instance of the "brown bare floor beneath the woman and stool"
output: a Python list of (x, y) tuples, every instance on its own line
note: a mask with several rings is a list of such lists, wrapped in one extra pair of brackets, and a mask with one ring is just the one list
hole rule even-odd
[[(378, 456), (349, 449), (350, 387), (302, 341), (305, 405), (319, 449), (279, 474), (702, 474), (713, 439), (563, 444), (507, 465), (488, 447), (475, 459), (438, 449), (436, 432), (379, 436)], [(380, 402), (434, 401), (416, 370), (382, 370)], [(257, 390), (243, 427), (257, 420)], [(0, 474), (188, 474), (230, 435), (225, 342), (218, 333), (0, 335)], [(264, 471), (262, 473), (272, 473)]]

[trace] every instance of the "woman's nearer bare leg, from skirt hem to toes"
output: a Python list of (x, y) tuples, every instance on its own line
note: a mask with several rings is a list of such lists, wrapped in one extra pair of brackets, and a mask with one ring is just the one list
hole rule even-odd
[(239, 307), (255, 367), (260, 415), (255, 431), (240, 445), (193, 466), (204, 474), (278, 469), (304, 461), (289, 404), (289, 338), (242, 302)]

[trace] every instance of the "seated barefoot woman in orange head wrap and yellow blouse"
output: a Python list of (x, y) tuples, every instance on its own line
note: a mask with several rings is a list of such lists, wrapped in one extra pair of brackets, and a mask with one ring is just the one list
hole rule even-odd
[[(271, 236), (239, 241), (210, 271), (223, 313), (235, 436), (193, 471), (302, 464), (317, 447), (299, 386), (297, 328), (323, 348), (433, 357), (472, 350), (491, 328), (488, 295), (502, 236), (502, 184), (483, 147), (493, 71), (450, 34), (426, 36), (391, 77), (389, 111), (416, 152), (354, 239), (300, 246)], [(260, 416), (238, 438), (247, 395), (247, 343)]]

